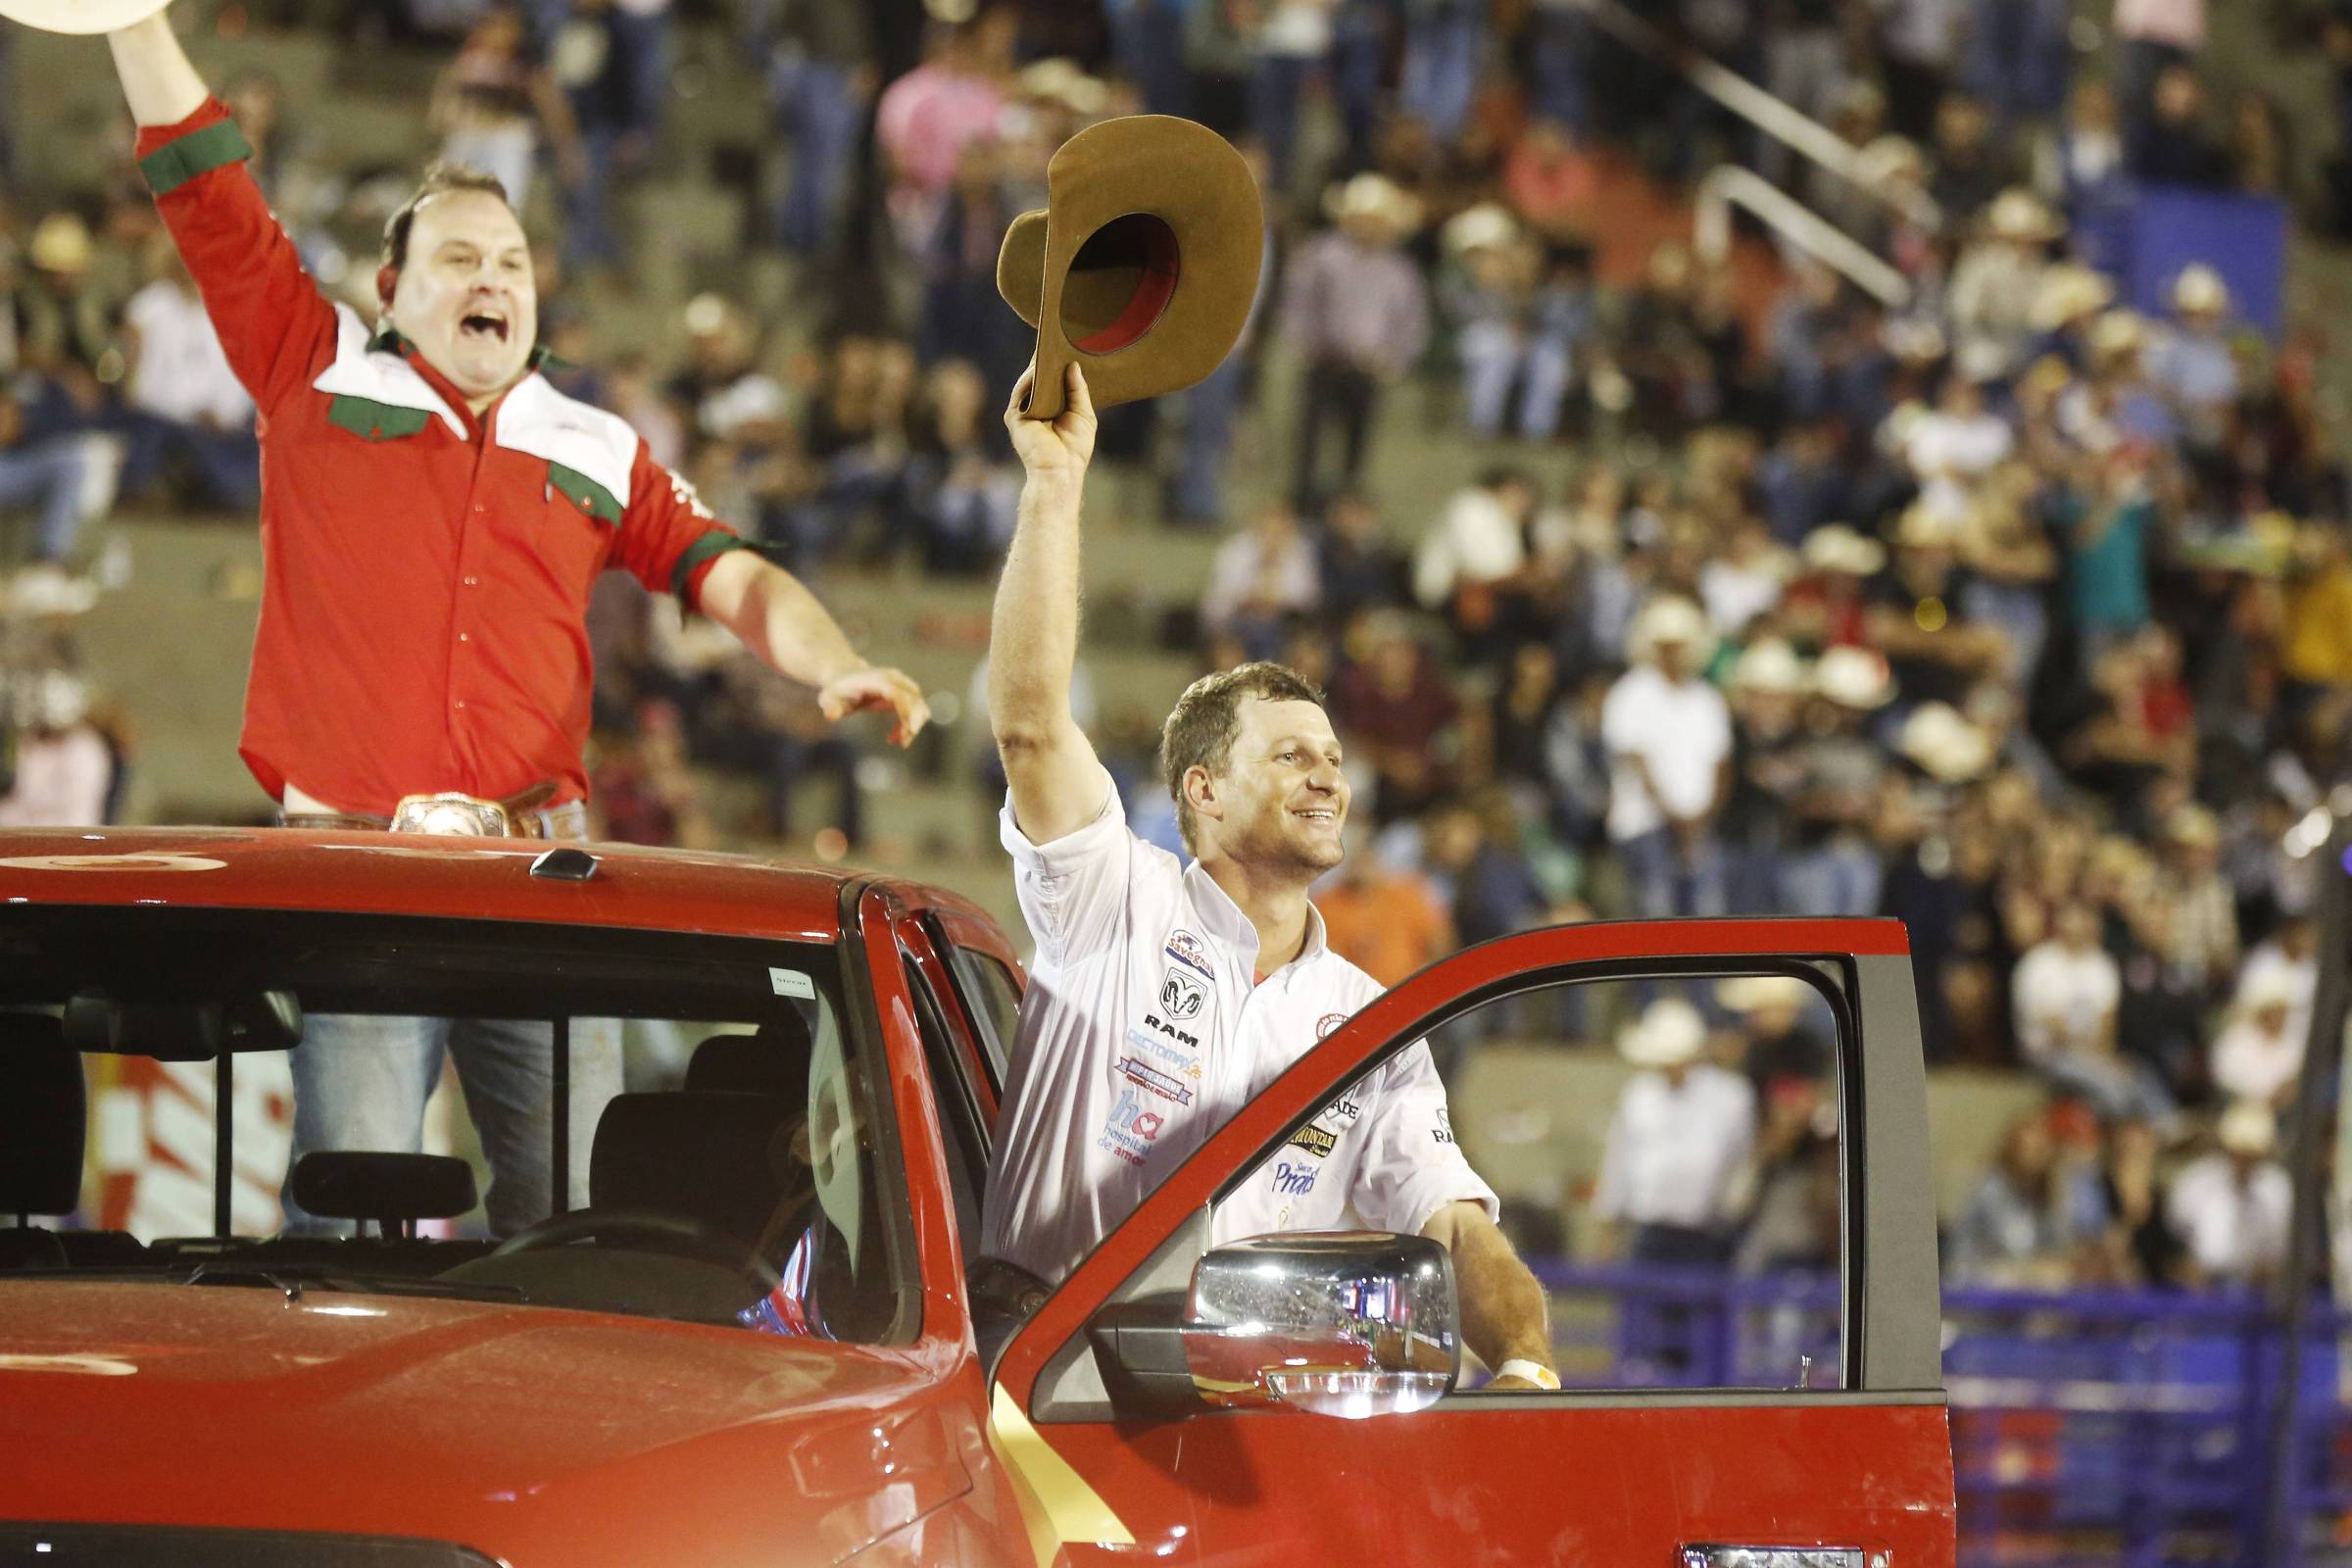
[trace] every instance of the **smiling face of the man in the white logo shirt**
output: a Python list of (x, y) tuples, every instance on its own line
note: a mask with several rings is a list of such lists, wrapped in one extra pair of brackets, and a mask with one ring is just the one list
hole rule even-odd
[[(1341, 863), (1348, 776), (1331, 715), (1305, 701), (1242, 698), (1232, 752), (1214, 778), (1204, 837), (1251, 867), (1319, 877)], [(1200, 809), (1200, 806), (1195, 806)]]

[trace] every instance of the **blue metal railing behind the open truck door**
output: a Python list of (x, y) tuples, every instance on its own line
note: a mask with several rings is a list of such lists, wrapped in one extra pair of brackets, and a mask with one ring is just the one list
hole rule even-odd
[[(1569, 1387), (1835, 1387), (1839, 1288), (1820, 1274), (1534, 1262)], [(2263, 1298), (1943, 1293), (1964, 1568), (2352, 1566), (2352, 1420), (2338, 1335), (2300, 1356), (2291, 1516), (2265, 1549), (2284, 1352)]]

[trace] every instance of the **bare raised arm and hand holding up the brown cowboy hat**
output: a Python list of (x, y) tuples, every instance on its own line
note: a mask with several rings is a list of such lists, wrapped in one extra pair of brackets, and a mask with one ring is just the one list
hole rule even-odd
[(1051, 844), (1094, 820), (1105, 790), (1103, 764), (1070, 717), (1077, 508), (1094, 458), (1094, 397), (1073, 364), (1061, 416), (1023, 418), (1030, 376), (1021, 376), (1004, 407), (1028, 482), (988, 625), (988, 729), (1004, 757), (1014, 820), (1030, 844)]

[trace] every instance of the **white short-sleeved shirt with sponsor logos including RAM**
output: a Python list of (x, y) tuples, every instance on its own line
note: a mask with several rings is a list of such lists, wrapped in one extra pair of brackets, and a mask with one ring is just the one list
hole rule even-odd
[[(1296, 959), (1251, 983), (1256, 926), (1200, 863), (1103, 809), (1051, 844), (1002, 813), (1037, 954), (988, 1161), (981, 1253), (1063, 1279), (1242, 1105), (1381, 994), (1308, 910)], [(1367, 1225), (1416, 1234), (1451, 1201), (1498, 1215), (1454, 1143), (1425, 1044), (1334, 1098), (1218, 1204), (1214, 1241)]]

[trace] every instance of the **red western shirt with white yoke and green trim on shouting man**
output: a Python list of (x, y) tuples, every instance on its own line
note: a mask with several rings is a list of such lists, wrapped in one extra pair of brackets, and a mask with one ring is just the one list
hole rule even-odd
[(694, 604), (743, 541), (628, 421), (534, 369), (480, 416), (397, 334), (320, 296), (219, 99), (139, 167), (261, 411), (261, 623), (245, 764), (336, 811), (402, 795), (583, 799), (597, 574)]

